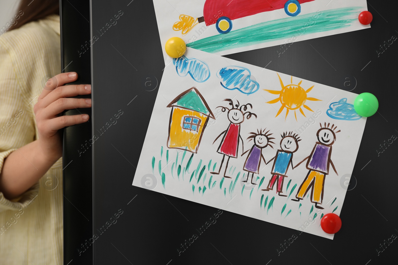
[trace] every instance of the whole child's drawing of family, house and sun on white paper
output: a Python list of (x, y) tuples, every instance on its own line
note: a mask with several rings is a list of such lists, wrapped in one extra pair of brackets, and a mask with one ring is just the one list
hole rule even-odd
[[(336, 121), (327, 111), (338, 101), (329, 114), (349, 116), (351, 107), (345, 103), (357, 95), (228, 58), (226, 64), (200, 50), (187, 49), (186, 56), (207, 62), (214, 74), (195, 87), (189, 73), (176, 75), (177, 64), (166, 66), (133, 186), (149, 188), (153, 183), (150, 189), (165, 196), (332, 239), (319, 222), (328, 213), (340, 213), (347, 189), (336, 174), (353, 172), (366, 118)], [(256, 90), (248, 85), (238, 91), (250, 79), (261, 84), (261, 91), (243, 95)], [(279, 117), (286, 115), (283, 104), (291, 112), (286, 119)], [(283, 114), (275, 117), (278, 110)], [(316, 224), (310, 225), (309, 219)]]

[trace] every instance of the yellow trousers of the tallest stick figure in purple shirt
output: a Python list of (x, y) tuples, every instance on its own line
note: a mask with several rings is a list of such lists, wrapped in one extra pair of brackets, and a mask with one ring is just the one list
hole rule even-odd
[(306, 195), (307, 191), (312, 187), (311, 201), (322, 203), (324, 180), (324, 173), (310, 170), (300, 188), (298, 188), (296, 197), (302, 199)]

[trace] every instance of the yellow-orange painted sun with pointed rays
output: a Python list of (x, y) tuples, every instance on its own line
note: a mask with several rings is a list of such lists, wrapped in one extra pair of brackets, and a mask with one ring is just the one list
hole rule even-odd
[(310, 87), (307, 90), (304, 90), (300, 86), (302, 80), (300, 82), (298, 82), (297, 85), (293, 85), (293, 76), (290, 79), (289, 85), (283, 85), (281, 77), (279, 76), (278, 73), (277, 73), (277, 75), (279, 77), (279, 82), (281, 82), (282, 90), (279, 91), (279, 90), (264, 89), (265, 91), (268, 91), (271, 94), (279, 95), (279, 98), (276, 98), (276, 99), (273, 99), (273, 100), (267, 102), (269, 104), (277, 103), (278, 101), (280, 101), (282, 103), (282, 106), (281, 106), (281, 108), (279, 108), (278, 113), (276, 114), (275, 117), (277, 117), (279, 114), (281, 114), (283, 108), (286, 108), (285, 120), (286, 120), (287, 114), (289, 114), (289, 110), (295, 111), (296, 121), (297, 121), (297, 116), (296, 116), (297, 109), (299, 109), (301, 114), (304, 117), (306, 117), (301, 106), (303, 106), (304, 108), (306, 108), (309, 111), (314, 112), (314, 110), (312, 110), (310, 107), (308, 107), (307, 105), (304, 104), (307, 100), (320, 101), (320, 99), (315, 99), (313, 97), (307, 97), (307, 93), (310, 92), (314, 86)]

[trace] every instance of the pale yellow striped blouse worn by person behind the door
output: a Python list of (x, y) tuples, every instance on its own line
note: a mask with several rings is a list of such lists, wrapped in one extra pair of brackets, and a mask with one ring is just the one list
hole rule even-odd
[[(60, 72), (59, 15), (0, 36), (0, 170), (37, 139), (33, 105), (47, 77)], [(61, 158), (19, 198), (0, 192), (0, 264), (62, 264), (62, 247)]]

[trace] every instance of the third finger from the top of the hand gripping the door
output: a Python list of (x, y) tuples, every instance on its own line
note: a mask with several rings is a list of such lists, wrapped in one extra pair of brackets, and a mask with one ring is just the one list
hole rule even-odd
[(74, 108), (90, 108), (91, 99), (73, 99), (73, 98), (60, 98), (49, 104), (45, 108), (43, 118), (53, 118), (64, 110), (71, 110)]

